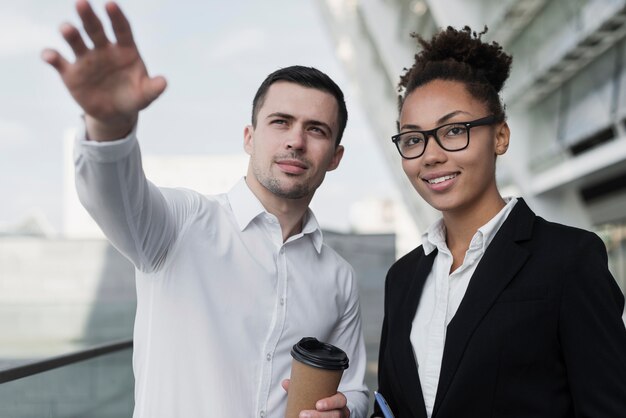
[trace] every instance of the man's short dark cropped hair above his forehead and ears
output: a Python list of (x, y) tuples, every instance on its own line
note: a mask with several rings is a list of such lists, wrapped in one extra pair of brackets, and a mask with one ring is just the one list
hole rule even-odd
[(337, 100), (337, 108), (339, 109), (337, 114), (337, 124), (339, 130), (337, 131), (335, 146), (338, 146), (341, 142), (343, 131), (346, 129), (346, 124), (348, 123), (348, 109), (346, 109), (343, 92), (329, 76), (313, 67), (293, 65), (291, 67), (281, 68), (268, 75), (259, 86), (259, 89), (254, 96), (254, 100), (252, 101), (252, 126), (256, 127), (257, 115), (259, 113), (259, 109), (263, 106), (267, 91), (270, 86), (277, 81), (287, 81), (303, 87), (321, 90), (331, 94)]

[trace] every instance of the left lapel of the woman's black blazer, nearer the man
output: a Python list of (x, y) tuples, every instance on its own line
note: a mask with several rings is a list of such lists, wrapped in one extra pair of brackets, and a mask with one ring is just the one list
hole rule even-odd
[(400, 321), (398, 328), (398, 341), (393, 344), (393, 360), (395, 372), (398, 376), (402, 376), (403, 396), (408, 400), (411, 408), (411, 416), (415, 418), (426, 418), (426, 406), (424, 404), (424, 395), (422, 394), (422, 386), (417, 373), (418, 365), (415, 363), (415, 354), (411, 345), (411, 327), (413, 318), (417, 311), (417, 305), (422, 296), (424, 282), (433, 266), (433, 261), (437, 251), (433, 251), (428, 256), (422, 255), (410, 282), (408, 291), (404, 301), (402, 302), (401, 315), (398, 315)]

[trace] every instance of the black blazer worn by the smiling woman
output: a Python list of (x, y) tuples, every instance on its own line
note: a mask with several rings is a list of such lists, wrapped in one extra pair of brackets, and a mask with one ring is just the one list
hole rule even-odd
[[(435, 255), (387, 274), (378, 384), (397, 418), (426, 417), (409, 335)], [(602, 241), (519, 199), (447, 327), (433, 418), (625, 418), (623, 309)]]

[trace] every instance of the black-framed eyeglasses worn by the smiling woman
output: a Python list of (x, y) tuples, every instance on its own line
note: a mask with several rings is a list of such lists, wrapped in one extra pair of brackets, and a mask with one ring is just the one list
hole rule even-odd
[(496, 117), (490, 115), (471, 122), (454, 122), (441, 125), (429, 131), (406, 131), (391, 137), (398, 152), (407, 160), (421, 157), (426, 151), (428, 138), (433, 137), (446, 151), (461, 151), (469, 145), (469, 131), (475, 126), (491, 125)]

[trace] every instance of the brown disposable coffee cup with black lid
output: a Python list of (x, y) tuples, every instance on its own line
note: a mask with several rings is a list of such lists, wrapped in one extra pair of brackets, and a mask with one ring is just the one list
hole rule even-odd
[(340, 348), (313, 337), (305, 337), (294, 345), (291, 357), (285, 418), (298, 418), (300, 411), (314, 410), (317, 401), (337, 393), (349, 360)]

